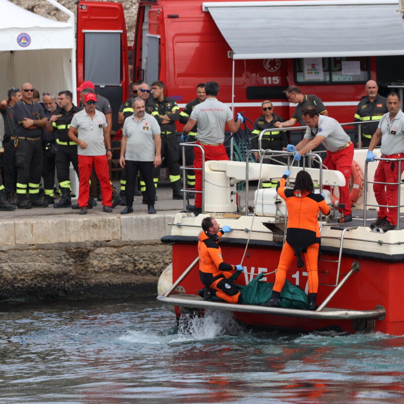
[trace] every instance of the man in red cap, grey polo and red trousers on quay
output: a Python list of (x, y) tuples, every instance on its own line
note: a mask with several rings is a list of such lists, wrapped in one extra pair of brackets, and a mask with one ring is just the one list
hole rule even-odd
[(89, 180), (93, 166), (101, 186), (103, 211), (112, 212), (112, 186), (108, 169), (108, 162), (112, 159), (111, 139), (105, 115), (95, 109), (96, 102), (95, 93), (84, 96), (85, 108), (73, 117), (68, 133), (69, 139), (78, 144), (80, 215), (85, 215), (89, 207)]

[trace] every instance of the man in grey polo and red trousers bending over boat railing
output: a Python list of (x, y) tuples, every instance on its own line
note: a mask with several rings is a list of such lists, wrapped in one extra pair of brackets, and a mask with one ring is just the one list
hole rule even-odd
[(352, 221), (352, 211), (349, 199), (349, 178), (351, 174), (352, 159), (354, 159), (354, 143), (342, 129), (342, 126), (333, 118), (320, 115), (314, 107), (302, 110), (302, 117), (306, 125), (304, 138), (297, 143), (286, 146), (287, 151), (296, 151), (294, 160), (299, 161), (301, 156), (309, 153), (320, 143), (327, 149), (327, 157), (323, 162), (329, 170), (338, 170), (345, 178), (345, 185), (339, 187), (339, 203), (344, 204), (339, 208), (342, 216), (340, 223)]

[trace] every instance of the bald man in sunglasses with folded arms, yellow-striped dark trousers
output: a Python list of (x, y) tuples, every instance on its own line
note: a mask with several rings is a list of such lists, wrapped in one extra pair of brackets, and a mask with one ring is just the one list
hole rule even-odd
[[(15, 136), (11, 136), (16, 149), (17, 165), (17, 207), (30, 209), (32, 206), (47, 207), (39, 198), (39, 183), (42, 174), (42, 128), (47, 119), (43, 108), (35, 103), (34, 88), (30, 83), (21, 87), (22, 99), (14, 106), (14, 120), (17, 124)], [(29, 200), (26, 193), (29, 193)]]

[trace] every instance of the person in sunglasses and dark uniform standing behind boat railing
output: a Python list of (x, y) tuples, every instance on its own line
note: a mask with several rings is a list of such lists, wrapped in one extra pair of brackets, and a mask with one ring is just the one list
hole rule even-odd
[[(274, 114), (274, 107), (270, 100), (265, 100), (261, 104), (261, 108), (263, 111), (263, 114), (256, 119), (256, 122), (254, 124), (254, 130), (251, 132), (252, 138), (251, 138), (251, 148), (259, 148), (259, 143), (258, 143), (258, 137), (260, 133), (264, 129), (272, 129), (275, 128), (275, 124), (277, 122), (283, 122), (284, 119), (281, 118), (280, 116)], [(287, 136), (287, 131), (285, 130), (276, 130), (272, 132), (267, 132), (263, 135), (262, 137), (262, 142), (261, 142), (261, 147), (266, 150), (266, 149), (271, 149), (271, 150), (286, 150), (286, 146), (288, 144), (288, 136)], [(258, 160), (259, 154), (255, 154), (256, 159)], [(274, 159), (264, 159), (265, 164), (281, 164), (280, 162), (284, 160), (282, 157), (278, 156), (273, 156)], [(278, 179), (274, 179), (271, 181), (263, 181), (262, 182), (262, 187), (263, 188), (276, 188), (276, 184), (278, 183)]]

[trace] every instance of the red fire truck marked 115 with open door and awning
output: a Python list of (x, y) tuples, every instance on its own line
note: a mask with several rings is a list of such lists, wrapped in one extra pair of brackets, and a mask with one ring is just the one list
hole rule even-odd
[[(195, 98), (196, 84), (214, 80), (220, 100), (252, 120), (264, 99), (274, 103), (276, 114), (291, 117), (294, 105), (283, 90), (296, 85), (319, 96), (330, 116), (351, 122), (367, 80), (377, 80), (385, 95), (403, 79), (397, 5), (397, 0), (141, 0), (132, 80), (164, 81), (180, 107)], [(129, 84), (122, 6), (80, 1), (77, 25), (78, 83), (88, 74), (112, 75), (113, 84), (104, 80), (99, 92), (121, 103)], [(98, 47), (91, 49), (94, 44)]]

